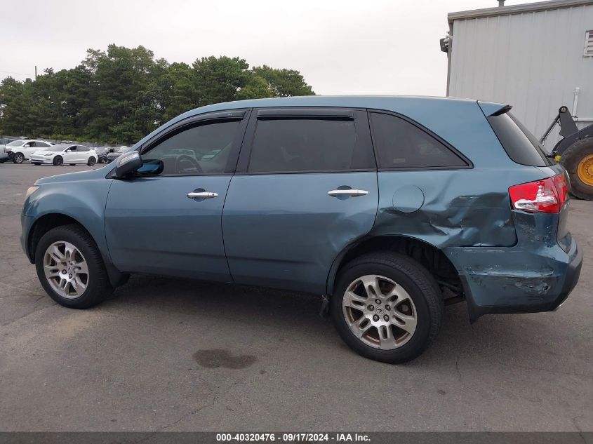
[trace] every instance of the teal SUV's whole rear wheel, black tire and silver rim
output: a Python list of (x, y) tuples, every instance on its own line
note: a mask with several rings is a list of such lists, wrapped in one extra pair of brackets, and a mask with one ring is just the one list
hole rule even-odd
[(338, 334), (361, 356), (416, 358), (437, 336), (444, 304), (434, 277), (411, 257), (371, 253), (342, 268), (331, 298)]

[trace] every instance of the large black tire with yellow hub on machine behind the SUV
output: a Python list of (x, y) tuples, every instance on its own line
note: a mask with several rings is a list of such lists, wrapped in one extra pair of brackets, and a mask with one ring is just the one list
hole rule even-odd
[(560, 163), (571, 177), (571, 194), (585, 201), (593, 200), (593, 137), (573, 143), (562, 153)]

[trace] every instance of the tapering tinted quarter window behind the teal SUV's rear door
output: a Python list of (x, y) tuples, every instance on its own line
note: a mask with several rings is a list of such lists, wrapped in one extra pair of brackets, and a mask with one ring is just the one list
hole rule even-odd
[(451, 168), (468, 163), (445, 144), (397, 116), (371, 113), (380, 168)]

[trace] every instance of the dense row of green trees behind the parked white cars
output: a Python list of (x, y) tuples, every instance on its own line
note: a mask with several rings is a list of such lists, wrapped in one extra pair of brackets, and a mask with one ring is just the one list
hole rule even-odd
[(294, 69), (204, 57), (191, 66), (138, 46), (89, 49), (72, 69), (0, 83), (0, 133), (130, 144), (189, 109), (229, 100), (314, 95)]

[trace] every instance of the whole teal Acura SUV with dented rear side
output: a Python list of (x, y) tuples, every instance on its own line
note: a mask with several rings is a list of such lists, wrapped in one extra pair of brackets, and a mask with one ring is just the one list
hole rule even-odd
[(65, 307), (98, 304), (132, 273), (309, 292), (352, 349), (401, 363), (445, 304), (465, 301), (473, 322), (566, 300), (582, 262), (569, 187), (507, 105), (247, 100), (38, 180), (21, 241)]

